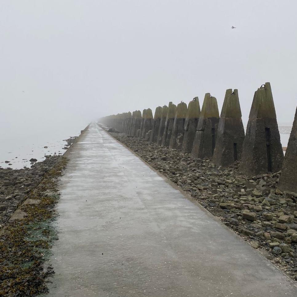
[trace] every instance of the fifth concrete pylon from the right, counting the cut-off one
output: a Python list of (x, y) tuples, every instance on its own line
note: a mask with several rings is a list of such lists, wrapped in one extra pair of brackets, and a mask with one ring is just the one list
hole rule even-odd
[(195, 97), (189, 102), (188, 112), (184, 122), (184, 140), (181, 146), (183, 153), (190, 154), (192, 151), (200, 112), (199, 99)]

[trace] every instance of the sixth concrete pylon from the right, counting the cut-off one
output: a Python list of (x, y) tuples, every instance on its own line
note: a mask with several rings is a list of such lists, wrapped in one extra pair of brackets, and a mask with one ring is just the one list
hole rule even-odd
[(184, 123), (187, 116), (188, 107), (183, 101), (177, 104), (176, 114), (172, 127), (172, 134), (169, 141), (170, 149), (180, 150), (184, 140)]

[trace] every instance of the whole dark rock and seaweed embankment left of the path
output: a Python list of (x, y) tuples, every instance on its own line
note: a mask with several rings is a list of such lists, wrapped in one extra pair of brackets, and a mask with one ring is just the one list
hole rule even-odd
[[(66, 140), (67, 149), (76, 139)], [(46, 278), (54, 271), (44, 263), (57, 240), (52, 221), (66, 155), (47, 156), (32, 169), (0, 169), (0, 296), (48, 292)]]

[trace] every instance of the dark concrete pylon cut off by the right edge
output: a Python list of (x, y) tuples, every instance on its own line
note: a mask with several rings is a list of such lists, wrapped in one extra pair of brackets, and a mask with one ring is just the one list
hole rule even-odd
[(277, 187), (297, 193), (297, 109)]

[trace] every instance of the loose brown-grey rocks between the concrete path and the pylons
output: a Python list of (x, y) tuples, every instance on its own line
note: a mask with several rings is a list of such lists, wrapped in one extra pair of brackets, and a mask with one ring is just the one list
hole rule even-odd
[(110, 132), (297, 281), (297, 195), (276, 189), (280, 171), (252, 177), (180, 150)]

